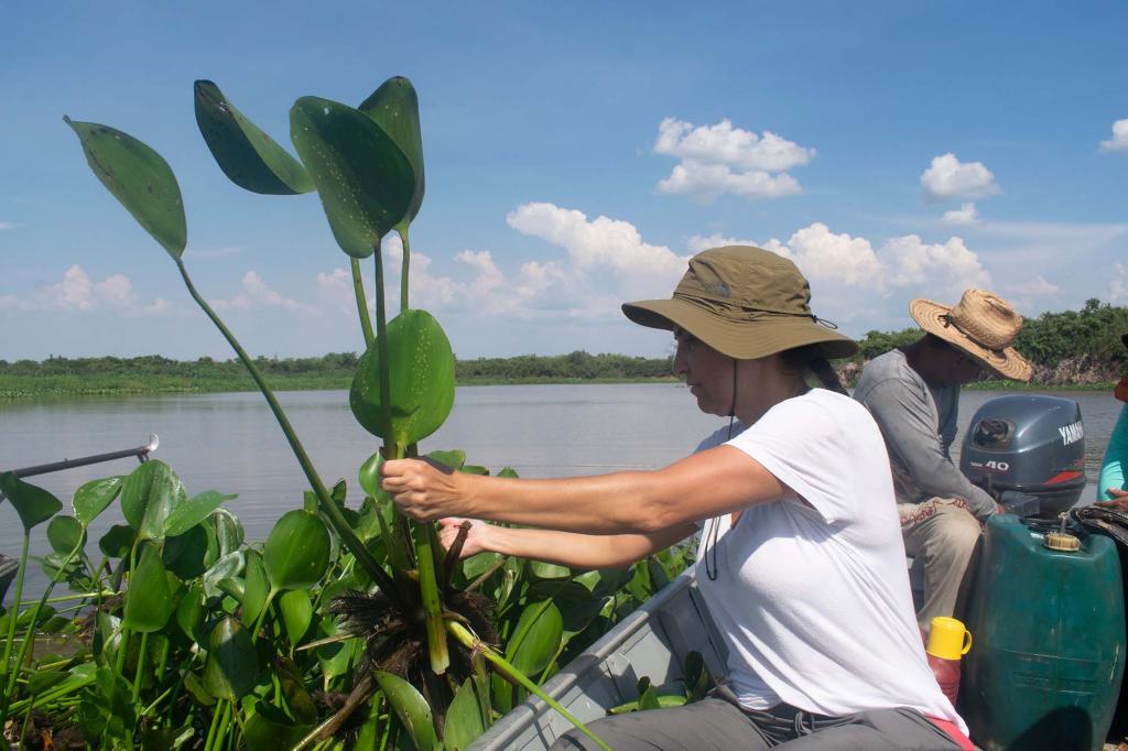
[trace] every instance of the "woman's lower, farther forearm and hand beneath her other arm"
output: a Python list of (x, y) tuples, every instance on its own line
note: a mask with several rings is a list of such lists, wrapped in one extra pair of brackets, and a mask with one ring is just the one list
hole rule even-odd
[(440, 520), (443, 547), (450, 547), (458, 528), (470, 523), (462, 557), (478, 553), (532, 558), (574, 568), (622, 568), (664, 550), (690, 537), (694, 524), (682, 524), (653, 534), (578, 534), (541, 529), (511, 529), (487, 522), (448, 518)]

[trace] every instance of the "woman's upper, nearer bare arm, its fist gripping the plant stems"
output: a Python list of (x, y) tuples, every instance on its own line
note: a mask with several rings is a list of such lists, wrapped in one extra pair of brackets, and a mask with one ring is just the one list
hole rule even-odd
[(384, 489), (413, 519), (468, 516), (587, 534), (651, 534), (795, 497), (758, 461), (728, 445), (664, 469), (597, 477), (483, 477), (420, 459), (387, 461), (381, 475)]

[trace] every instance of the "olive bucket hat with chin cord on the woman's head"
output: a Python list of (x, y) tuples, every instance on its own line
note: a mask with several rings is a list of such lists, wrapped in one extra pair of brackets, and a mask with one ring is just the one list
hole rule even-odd
[(735, 360), (766, 357), (810, 344), (828, 360), (857, 344), (814, 316), (811, 288), (787, 258), (747, 245), (703, 250), (689, 259), (669, 300), (627, 302), (623, 312), (649, 328), (688, 332)]

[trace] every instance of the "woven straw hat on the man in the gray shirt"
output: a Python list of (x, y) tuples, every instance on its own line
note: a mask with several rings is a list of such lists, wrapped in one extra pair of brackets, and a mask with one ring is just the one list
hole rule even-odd
[(1022, 316), (1003, 298), (968, 290), (954, 308), (917, 299), (909, 303), (909, 315), (920, 328), (960, 347), (1003, 378), (1030, 380), (1033, 365), (1011, 346), (1022, 328)]

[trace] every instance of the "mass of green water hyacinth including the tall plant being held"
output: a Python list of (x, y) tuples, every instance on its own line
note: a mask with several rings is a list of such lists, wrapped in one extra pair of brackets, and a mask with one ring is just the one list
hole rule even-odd
[[(95, 480), (73, 514), (46, 491), (0, 474), (25, 529), (15, 600), (0, 619), (0, 707), (9, 741), (29, 748), (465, 749), (686, 565), (667, 551), (626, 572), (579, 572), (443, 550), (434, 523), (398, 513), (380, 491), (385, 459), (417, 456), (455, 400), (455, 361), (438, 320), (409, 308), (409, 227), (424, 194), (417, 97), (405, 78), (359, 107), (302, 97), (290, 111), (291, 156), (211, 81), (195, 83), (200, 131), (223, 173), (261, 194), (320, 198), (349, 256), (365, 345), (349, 401), (380, 445), (346, 485), (328, 487), (270, 386), (192, 282), (187, 228), (171, 168), (131, 135), (65, 118), (95, 175), (165, 248), (183, 282), (246, 365), (305, 474), (264, 544), (244, 540), (226, 504), (190, 496), (147, 461)], [(398, 313), (386, 315), (385, 237), (403, 241)], [(361, 262), (373, 258), (374, 315)], [(373, 320), (374, 319), (374, 320)], [(429, 454), (487, 474), (460, 450)], [(502, 474), (514, 475), (511, 469)], [(112, 504), (124, 524), (87, 554), (87, 528)], [(21, 600), (30, 530), (47, 523), (51, 582)], [(58, 585), (70, 593), (52, 597)], [(58, 609), (56, 609), (58, 607)], [(37, 639), (70, 637), (68, 654)], [(78, 644), (78, 648), (73, 645)], [(582, 725), (574, 721), (578, 726)], [(587, 732), (587, 731), (585, 731)], [(606, 746), (605, 746), (606, 748)]]

